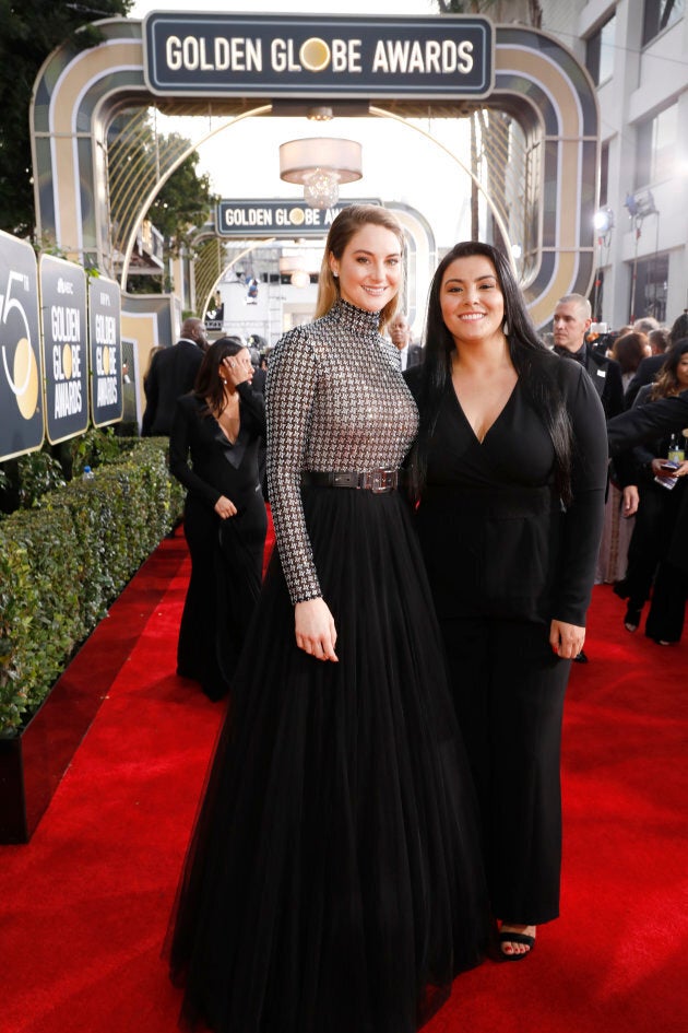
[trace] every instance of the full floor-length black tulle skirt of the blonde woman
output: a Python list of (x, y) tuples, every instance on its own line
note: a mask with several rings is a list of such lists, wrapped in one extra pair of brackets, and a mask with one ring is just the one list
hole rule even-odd
[(473, 791), (410, 513), (308, 489), (339, 664), (299, 650), (277, 553), (168, 936), (182, 1025), (412, 1033), (488, 936)]

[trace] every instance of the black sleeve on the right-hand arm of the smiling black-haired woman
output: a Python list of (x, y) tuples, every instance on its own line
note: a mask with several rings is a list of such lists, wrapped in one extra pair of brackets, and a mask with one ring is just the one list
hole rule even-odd
[(583, 626), (604, 524), (608, 454), (604, 410), (586, 376), (567, 391), (567, 408), (573, 431), (573, 501), (562, 517), (553, 618)]

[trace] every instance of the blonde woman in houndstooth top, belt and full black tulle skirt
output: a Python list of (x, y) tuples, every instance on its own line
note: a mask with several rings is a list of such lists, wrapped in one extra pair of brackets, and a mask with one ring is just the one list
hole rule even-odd
[(413, 1033), (485, 947), (473, 789), (396, 490), (417, 411), (380, 328), (402, 254), (389, 212), (345, 208), (317, 318), (270, 357), (277, 549), (170, 930), (187, 1026)]

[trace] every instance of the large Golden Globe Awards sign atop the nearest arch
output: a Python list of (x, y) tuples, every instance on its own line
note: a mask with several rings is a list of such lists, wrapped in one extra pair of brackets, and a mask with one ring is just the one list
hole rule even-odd
[(484, 97), (494, 85), (488, 19), (167, 14), (144, 21), (153, 93), (194, 96)]

